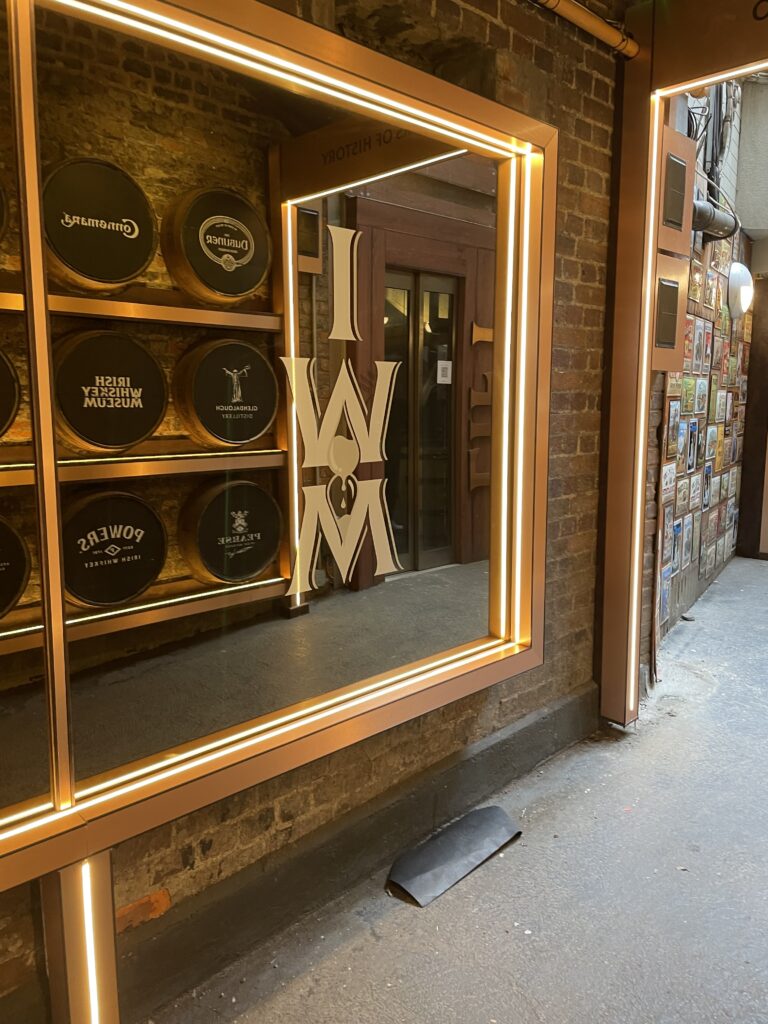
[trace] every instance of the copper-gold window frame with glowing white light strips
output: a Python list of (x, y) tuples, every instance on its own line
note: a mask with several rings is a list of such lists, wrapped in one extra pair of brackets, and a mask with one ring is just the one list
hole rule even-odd
[[(39, 444), (51, 802), (0, 818), (0, 889), (82, 860), (133, 835), (286, 772), (543, 664), (548, 422), (553, 311), (557, 133), (496, 102), (373, 53), (332, 33), (237, 0), (8, 0), (16, 104), (27, 318), (38, 381), (50, 394), (50, 338), (40, 215), (35, 93), (36, 6), (194, 51), (288, 88), (374, 112), (499, 161), (495, 442), (492, 470), (490, 635), (284, 711), (190, 741), (78, 788), (72, 765), (67, 623), (59, 550), (60, 466)], [(377, 175), (374, 175), (376, 177)], [(356, 182), (355, 182), (356, 183)], [(340, 186), (342, 187), (342, 186)], [(334, 188), (333, 190), (338, 190)], [(290, 351), (295, 203), (281, 197), (276, 313)], [(292, 233), (293, 232), (293, 233)], [(279, 279), (280, 281), (280, 279)], [(282, 294), (281, 294), (282, 293)], [(109, 300), (98, 301), (103, 306)], [(498, 389), (497, 389), (498, 386)], [(45, 403), (43, 403), (45, 404)], [(52, 408), (52, 406), (51, 406)], [(51, 409), (43, 410), (51, 417)], [(51, 437), (52, 419), (37, 434)], [(285, 422), (290, 486), (298, 439)], [(295, 519), (292, 516), (292, 532)]]

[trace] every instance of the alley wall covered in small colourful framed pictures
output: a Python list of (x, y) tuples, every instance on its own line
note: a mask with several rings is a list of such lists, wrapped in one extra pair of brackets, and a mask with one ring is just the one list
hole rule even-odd
[(683, 371), (653, 382), (656, 645), (736, 550), (752, 313), (731, 319), (728, 272), (749, 266), (750, 251), (743, 232), (706, 244), (693, 234)]

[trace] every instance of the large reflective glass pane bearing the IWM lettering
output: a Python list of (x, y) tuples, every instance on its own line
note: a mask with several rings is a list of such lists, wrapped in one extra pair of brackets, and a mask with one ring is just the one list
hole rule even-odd
[(37, 16), (82, 793), (487, 635), (496, 168)]

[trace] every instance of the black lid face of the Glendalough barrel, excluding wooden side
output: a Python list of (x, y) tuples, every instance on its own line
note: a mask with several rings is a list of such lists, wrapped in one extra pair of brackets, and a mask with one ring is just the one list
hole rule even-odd
[(244, 444), (268, 429), (278, 410), (278, 381), (255, 345), (225, 341), (198, 364), (193, 406), (201, 426), (218, 440)]

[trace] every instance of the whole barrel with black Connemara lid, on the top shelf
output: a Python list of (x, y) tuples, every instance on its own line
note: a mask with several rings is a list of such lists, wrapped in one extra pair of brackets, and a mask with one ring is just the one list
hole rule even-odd
[(81, 158), (59, 164), (43, 186), (51, 275), (85, 291), (111, 292), (152, 262), (157, 224), (150, 202), (122, 168)]

